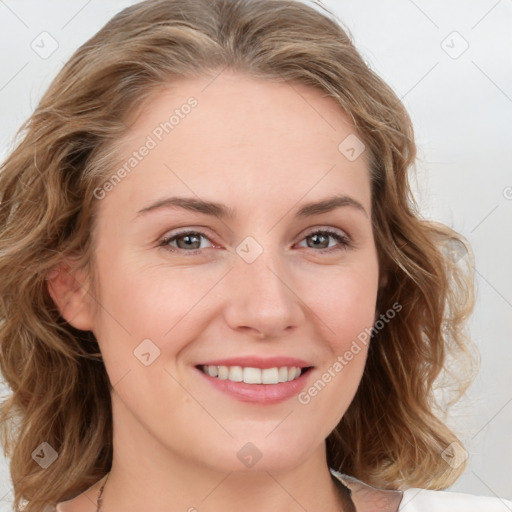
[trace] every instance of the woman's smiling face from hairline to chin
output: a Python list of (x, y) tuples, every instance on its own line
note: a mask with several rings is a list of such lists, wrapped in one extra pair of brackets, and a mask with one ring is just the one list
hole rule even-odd
[[(376, 314), (355, 134), (334, 100), (297, 84), (224, 72), (155, 93), (117, 179), (95, 192), (99, 289), (76, 316), (114, 386), (119, 446), (224, 471), (324, 449)], [(198, 367), (220, 362), (222, 378)], [(293, 378), (293, 366), (311, 368), (291, 383), (237, 382)]]

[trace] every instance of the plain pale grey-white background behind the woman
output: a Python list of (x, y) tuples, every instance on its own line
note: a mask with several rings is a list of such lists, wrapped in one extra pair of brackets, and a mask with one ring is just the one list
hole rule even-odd
[[(0, 160), (64, 62), (133, 3), (0, 0)], [(419, 149), (413, 183), (422, 214), (450, 225), (473, 246), (477, 305), (471, 333), (482, 367), (453, 411), (469, 468), (450, 490), (510, 499), (512, 1), (323, 4), (412, 117)], [(0, 460), (0, 511), (11, 510), (7, 464)]]

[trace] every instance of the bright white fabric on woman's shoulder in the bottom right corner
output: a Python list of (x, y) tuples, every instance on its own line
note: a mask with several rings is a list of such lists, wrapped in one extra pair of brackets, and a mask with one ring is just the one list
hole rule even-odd
[[(435, 509), (433, 508), (435, 507)], [(452, 491), (411, 488), (404, 491), (398, 512), (506, 512), (512, 501)]]

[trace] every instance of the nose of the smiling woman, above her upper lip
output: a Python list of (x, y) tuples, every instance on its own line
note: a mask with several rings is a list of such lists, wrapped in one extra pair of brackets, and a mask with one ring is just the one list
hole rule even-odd
[(284, 336), (304, 321), (304, 307), (282, 255), (264, 251), (252, 263), (237, 258), (225, 304), (232, 329), (260, 339)]

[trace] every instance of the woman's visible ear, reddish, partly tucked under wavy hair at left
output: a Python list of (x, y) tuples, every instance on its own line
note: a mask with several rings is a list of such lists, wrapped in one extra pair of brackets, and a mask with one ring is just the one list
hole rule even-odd
[(48, 293), (61, 316), (82, 331), (93, 329), (93, 303), (89, 293), (89, 276), (83, 269), (76, 270), (75, 262), (66, 258), (53, 267), (46, 276)]

